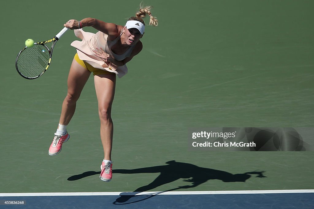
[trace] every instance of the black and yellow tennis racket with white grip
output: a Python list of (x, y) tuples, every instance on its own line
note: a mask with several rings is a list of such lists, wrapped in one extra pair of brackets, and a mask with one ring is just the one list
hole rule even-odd
[[(15, 61), (18, 73), (27, 79), (35, 79), (44, 74), (50, 65), (53, 47), (67, 30), (68, 28), (64, 27), (52, 39), (34, 43), (33, 47), (25, 46)], [(51, 49), (49, 49), (45, 44), (51, 42)]]

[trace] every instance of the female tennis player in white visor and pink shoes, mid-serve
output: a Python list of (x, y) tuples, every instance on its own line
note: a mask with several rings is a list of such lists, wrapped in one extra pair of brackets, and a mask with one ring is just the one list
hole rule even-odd
[[(75, 112), (76, 102), (93, 72), (95, 91), (98, 100), (100, 118), (100, 138), (104, 148), (104, 160), (100, 166), (100, 179), (112, 178), (111, 149), (113, 123), (111, 105), (116, 86), (116, 76), (121, 78), (127, 73), (126, 63), (132, 60), (143, 48), (140, 39), (145, 31), (143, 18), (149, 15), (149, 25), (157, 26), (158, 20), (150, 12), (151, 7), (141, 7), (135, 17), (131, 17), (125, 26), (106, 23), (95, 18), (81, 21), (71, 19), (64, 24), (74, 29), (74, 34), (82, 41), (73, 41), (71, 46), (77, 49), (68, 75), (68, 93), (62, 103), (57, 132), (49, 148), (49, 155), (56, 155), (62, 144), (70, 138), (67, 132)], [(91, 26), (98, 30), (96, 34), (85, 32), (82, 28)]]

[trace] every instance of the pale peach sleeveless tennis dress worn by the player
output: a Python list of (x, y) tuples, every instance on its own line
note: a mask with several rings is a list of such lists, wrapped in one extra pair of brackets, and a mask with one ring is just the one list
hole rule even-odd
[(96, 50), (96, 48), (102, 49), (118, 61), (124, 60), (126, 57), (129, 57), (132, 53), (134, 46), (130, 46), (127, 51), (124, 52), (122, 55), (116, 55), (111, 51), (111, 47), (116, 44), (116, 42), (120, 39), (122, 32), (123, 31), (121, 31), (120, 35), (116, 39), (108, 41), (108, 35), (101, 31), (98, 31), (96, 34), (94, 34), (90, 32), (85, 32), (83, 29), (75, 29), (75, 36), (79, 39), (82, 39), (82, 41), (73, 41), (71, 43), (71, 46), (76, 48), (78, 57), (81, 60), (84, 60), (89, 65), (92, 65), (97, 69), (113, 72), (119, 78), (121, 78), (122, 76), (127, 74), (127, 65), (122, 65), (118, 67), (115, 65), (110, 65), (109, 67), (111, 68), (111, 70), (109, 69), (109, 67), (102, 67), (105, 62), (99, 57), (96, 57), (93, 50)]

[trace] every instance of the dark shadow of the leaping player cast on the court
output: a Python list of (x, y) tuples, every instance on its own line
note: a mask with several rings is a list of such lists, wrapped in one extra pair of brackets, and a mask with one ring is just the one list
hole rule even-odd
[[(256, 177), (264, 178), (266, 176), (263, 175), (265, 171), (253, 171), (253, 172), (246, 172), (243, 174), (231, 174), (226, 171), (222, 170), (215, 170), (210, 168), (202, 168), (198, 167), (193, 164), (189, 163), (181, 163), (176, 162), (175, 160), (171, 160), (166, 162), (168, 165), (159, 165), (159, 166), (153, 166), (153, 167), (147, 167), (147, 168), (138, 168), (138, 169), (115, 169), (112, 170), (112, 173), (120, 173), (120, 174), (138, 174), (138, 173), (160, 173), (160, 175), (153, 180), (148, 185), (143, 185), (134, 192), (123, 192), (120, 194), (120, 197), (116, 199), (116, 201), (113, 202), (113, 204), (130, 204), (138, 201), (143, 201), (145, 199), (151, 198), (155, 196), (156, 192), (152, 192), (154, 195), (149, 195), (149, 197), (145, 197), (144, 199), (132, 202), (127, 202), (132, 197), (138, 197), (136, 194), (141, 193), (143, 191), (149, 191), (152, 189), (155, 189), (161, 185), (171, 183), (173, 181), (176, 181), (178, 179), (184, 179), (183, 181), (189, 182), (191, 184), (189, 185), (183, 185), (179, 186), (177, 188), (173, 188), (167, 191), (175, 191), (178, 189), (186, 189), (186, 188), (193, 188), (197, 187), (200, 184), (205, 183), (208, 180), (212, 179), (218, 179), (222, 180), (223, 182), (245, 182), (247, 179), (249, 179), (252, 175), (257, 175)], [(88, 177), (91, 175), (100, 175), (100, 171), (87, 171), (82, 174), (73, 175), (68, 178), (69, 181), (79, 180), (84, 177)], [(165, 191), (163, 191), (165, 192)], [(160, 192), (162, 193), (162, 192)]]

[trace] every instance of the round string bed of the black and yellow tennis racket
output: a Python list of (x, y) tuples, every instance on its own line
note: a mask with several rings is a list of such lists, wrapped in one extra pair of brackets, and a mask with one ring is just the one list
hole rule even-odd
[(25, 48), (19, 55), (17, 67), (19, 72), (28, 78), (41, 75), (48, 63), (50, 53), (48, 48), (42, 44), (35, 44), (33, 47)]

